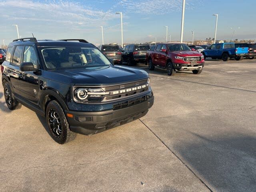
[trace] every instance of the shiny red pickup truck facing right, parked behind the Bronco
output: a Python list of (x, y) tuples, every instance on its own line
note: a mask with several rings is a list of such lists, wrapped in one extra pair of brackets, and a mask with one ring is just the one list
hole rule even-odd
[(160, 43), (155, 50), (146, 54), (149, 70), (164, 68), (168, 75), (176, 71), (189, 71), (200, 74), (204, 67), (204, 56), (183, 43)]

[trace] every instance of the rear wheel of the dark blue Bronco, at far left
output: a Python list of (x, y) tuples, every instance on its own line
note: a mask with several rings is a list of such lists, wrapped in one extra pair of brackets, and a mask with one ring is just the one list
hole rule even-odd
[(4, 82), (4, 98), (6, 105), (10, 110), (21, 108), (22, 105), (13, 97), (12, 90), (6, 81)]

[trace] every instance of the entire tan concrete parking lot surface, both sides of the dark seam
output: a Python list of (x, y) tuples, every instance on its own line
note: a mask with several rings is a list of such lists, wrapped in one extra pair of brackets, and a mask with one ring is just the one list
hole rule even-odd
[(255, 191), (256, 60), (148, 72), (141, 121), (65, 145), (33, 111), (8, 110), (0, 85), (0, 191)]

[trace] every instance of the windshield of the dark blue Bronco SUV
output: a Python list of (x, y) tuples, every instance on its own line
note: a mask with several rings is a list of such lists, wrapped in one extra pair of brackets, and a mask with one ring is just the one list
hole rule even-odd
[(99, 68), (112, 65), (102, 52), (92, 47), (49, 47), (41, 51), (48, 69)]

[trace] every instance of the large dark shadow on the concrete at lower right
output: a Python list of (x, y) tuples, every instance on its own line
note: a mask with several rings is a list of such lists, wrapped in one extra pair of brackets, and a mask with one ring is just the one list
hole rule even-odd
[(213, 191), (256, 189), (256, 137), (205, 137), (174, 145), (178, 157)]

